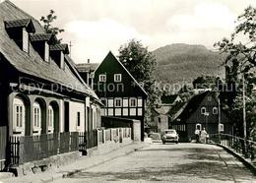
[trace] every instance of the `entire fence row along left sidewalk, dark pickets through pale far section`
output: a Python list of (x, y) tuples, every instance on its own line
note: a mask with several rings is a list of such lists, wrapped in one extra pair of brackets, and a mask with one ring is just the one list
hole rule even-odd
[[(1, 131), (1, 141), (2, 134), (4, 133)], [(119, 128), (83, 133), (64, 132), (39, 136), (12, 136), (10, 137), (10, 163), (19, 165), (64, 152), (86, 152), (87, 149), (105, 142), (118, 142), (118, 138), (121, 141), (131, 139), (131, 129)], [(2, 146), (2, 143), (0, 145)], [(2, 152), (0, 155), (2, 155)], [(5, 153), (3, 156), (5, 157)]]

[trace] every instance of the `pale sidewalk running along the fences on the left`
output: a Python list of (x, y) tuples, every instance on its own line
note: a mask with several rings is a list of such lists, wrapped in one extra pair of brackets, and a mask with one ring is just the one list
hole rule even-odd
[(51, 182), (53, 180), (61, 179), (67, 177), (74, 173), (81, 172), (90, 167), (96, 166), (98, 164), (104, 163), (111, 159), (127, 155), (129, 153), (135, 152), (138, 149), (146, 147), (146, 143), (133, 143), (127, 145), (118, 150), (107, 152), (101, 155), (95, 156), (82, 156), (75, 162), (67, 164), (55, 169), (49, 169), (43, 173), (32, 174), (22, 177), (12, 177), (4, 180), (0, 180), (0, 183), (40, 183), (40, 182)]

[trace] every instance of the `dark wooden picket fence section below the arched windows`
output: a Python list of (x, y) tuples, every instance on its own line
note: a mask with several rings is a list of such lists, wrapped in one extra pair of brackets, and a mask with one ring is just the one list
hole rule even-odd
[(10, 137), (11, 164), (20, 164), (59, 153), (78, 151), (78, 139), (78, 132)]

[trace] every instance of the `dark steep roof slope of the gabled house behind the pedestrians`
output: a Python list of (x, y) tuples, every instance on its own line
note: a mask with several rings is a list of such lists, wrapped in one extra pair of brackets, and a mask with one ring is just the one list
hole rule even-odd
[(179, 118), (180, 121), (186, 121), (191, 116), (191, 114), (193, 114), (198, 109), (199, 105), (208, 93), (210, 93), (210, 91), (205, 91), (193, 96), (185, 105), (184, 109), (180, 111), (180, 114), (175, 116), (174, 122), (177, 118)]

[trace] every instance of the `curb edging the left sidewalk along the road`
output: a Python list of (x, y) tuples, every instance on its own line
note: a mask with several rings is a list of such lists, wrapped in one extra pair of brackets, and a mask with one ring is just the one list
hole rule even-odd
[(89, 169), (89, 168), (92, 168), (92, 167), (94, 167), (94, 166), (103, 164), (103, 163), (108, 162), (108, 161), (110, 161), (110, 160), (113, 160), (113, 159), (115, 159), (115, 158), (128, 155), (128, 154), (130, 154), (130, 153), (132, 153), (132, 152), (137, 152), (138, 150), (143, 149), (143, 148), (145, 148), (145, 147), (147, 147), (147, 145), (141, 145), (141, 146), (138, 147), (138, 148), (132, 148), (132, 150), (128, 150), (128, 151), (126, 151), (126, 152), (121, 152), (121, 153), (117, 154), (116, 156), (108, 157), (108, 158), (102, 158), (102, 159), (98, 160), (97, 162), (95, 162), (94, 164), (91, 164), (91, 165), (89, 165), (89, 166), (87, 166), (87, 167), (83, 167), (83, 168), (76, 169), (76, 170), (72, 170), (72, 171), (65, 172), (65, 173), (58, 173), (58, 174), (56, 174), (55, 176), (52, 176), (52, 177), (49, 177), (49, 178), (47, 178), (47, 179), (41, 180), (41, 182), (43, 182), (43, 183), (48, 183), (48, 182), (52, 182), (52, 181), (55, 181), (55, 180), (58, 180), (58, 179), (70, 177), (70, 176), (72, 176), (72, 175), (74, 175), (74, 174), (76, 174), (76, 173), (80, 173), (80, 172), (82, 172), (82, 171), (84, 171), (84, 170), (86, 170), (86, 169)]

